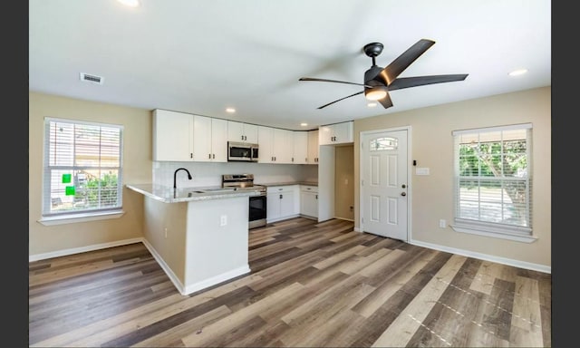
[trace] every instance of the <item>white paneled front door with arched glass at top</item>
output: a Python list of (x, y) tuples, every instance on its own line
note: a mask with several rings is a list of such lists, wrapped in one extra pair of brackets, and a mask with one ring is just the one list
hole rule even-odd
[(361, 133), (363, 232), (407, 241), (407, 130)]

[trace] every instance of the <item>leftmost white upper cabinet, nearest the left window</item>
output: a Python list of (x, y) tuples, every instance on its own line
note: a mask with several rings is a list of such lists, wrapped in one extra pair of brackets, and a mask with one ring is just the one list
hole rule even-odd
[(153, 160), (193, 160), (193, 115), (153, 111)]

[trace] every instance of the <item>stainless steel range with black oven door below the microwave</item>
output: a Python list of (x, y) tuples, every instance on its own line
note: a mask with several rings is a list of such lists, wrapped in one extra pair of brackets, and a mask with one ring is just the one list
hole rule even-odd
[(224, 174), (221, 186), (234, 189), (257, 190), (259, 196), (250, 196), (248, 228), (266, 226), (266, 186), (254, 185), (254, 174)]

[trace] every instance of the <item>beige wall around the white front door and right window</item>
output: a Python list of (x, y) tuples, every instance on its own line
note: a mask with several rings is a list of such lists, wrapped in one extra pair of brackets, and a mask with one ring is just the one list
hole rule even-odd
[[(533, 243), (457, 233), (440, 228), (453, 219), (453, 139), (451, 132), (516, 123), (533, 124)], [(411, 160), (430, 169), (416, 176), (411, 167), (410, 242), (464, 250), (551, 267), (551, 87), (500, 94), (354, 121), (354, 144), (361, 131), (411, 127)], [(360, 182), (360, 147), (354, 146), (354, 179)], [(360, 190), (355, 186), (355, 227)]]

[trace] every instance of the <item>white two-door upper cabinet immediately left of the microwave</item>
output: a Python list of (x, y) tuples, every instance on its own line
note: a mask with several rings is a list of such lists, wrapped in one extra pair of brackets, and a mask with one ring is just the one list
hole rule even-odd
[(227, 162), (226, 120), (194, 115), (193, 160), (196, 162)]

